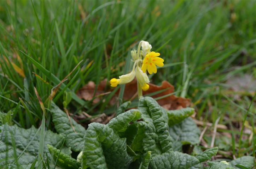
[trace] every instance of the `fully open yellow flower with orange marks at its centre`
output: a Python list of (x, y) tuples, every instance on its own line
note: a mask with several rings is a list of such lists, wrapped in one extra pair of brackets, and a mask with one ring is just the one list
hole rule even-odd
[(143, 73), (145, 73), (146, 70), (149, 72), (149, 74), (156, 73), (156, 65), (159, 67), (164, 65), (164, 60), (157, 56), (160, 56), (160, 54), (156, 52), (150, 52), (145, 56), (141, 67)]

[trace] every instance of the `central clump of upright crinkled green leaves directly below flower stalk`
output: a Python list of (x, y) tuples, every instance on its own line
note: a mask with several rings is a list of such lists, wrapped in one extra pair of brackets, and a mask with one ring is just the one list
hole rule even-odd
[(168, 128), (167, 112), (154, 99), (141, 97), (138, 110), (124, 112), (107, 125), (89, 124), (82, 168), (190, 168), (216, 155), (217, 148), (197, 156), (173, 151)]

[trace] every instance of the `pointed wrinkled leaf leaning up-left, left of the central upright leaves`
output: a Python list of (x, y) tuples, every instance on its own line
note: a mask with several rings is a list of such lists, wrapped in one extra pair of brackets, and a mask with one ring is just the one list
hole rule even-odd
[[(56, 131), (62, 136), (66, 136), (65, 145), (71, 147), (71, 150), (82, 151), (85, 140), (85, 128), (77, 124), (74, 119), (70, 117), (70, 120), (65, 112), (63, 112), (58, 106), (52, 102), (52, 121), (54, 123)], [(70, 124), (70, 121), (74, 127), (74, 130)]]

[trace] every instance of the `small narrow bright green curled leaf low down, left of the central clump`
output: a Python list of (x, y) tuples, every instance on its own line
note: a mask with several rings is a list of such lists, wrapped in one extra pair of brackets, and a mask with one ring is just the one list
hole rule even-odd
[[(47, 144), (47, 147), (52, 155), (54, 161), (56, 161), (57, 157), (57, 165), (65, 168), (65, 169), (78, 169), (80, 167), (80, 163), (76, 161), (76, 159), (70, 157), (64, 152), (60, 152), (60, 150), (54, 148), (52, 145)], [(58, 156), (59, 155), (59, 156)]]

